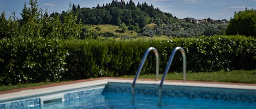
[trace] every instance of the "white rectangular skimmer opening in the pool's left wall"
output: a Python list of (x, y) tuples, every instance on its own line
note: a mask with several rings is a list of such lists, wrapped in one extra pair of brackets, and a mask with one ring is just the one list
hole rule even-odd
[(53, 102), (63, 102), (64, 99), (64, 94), (56, 94), (56, 95), (47, 95), (44, 97), (40, 97), (40, 105), (46, 105), (46, 104), (51, 104)]

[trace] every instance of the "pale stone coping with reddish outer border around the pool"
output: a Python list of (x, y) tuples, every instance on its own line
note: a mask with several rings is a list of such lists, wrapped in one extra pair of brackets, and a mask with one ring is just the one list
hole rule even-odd
[[(108, 82), (121, 82), (131, 83), (133, 79), (128, 78), (96, 78), (77, 80), (70, 82), (62, 82), (58, 84), (28, 87), (21, 89), (14, 89), (11, 91), (0, 92), (0, 101), (7, 99), (22, 98), (28, 96), (35, 96), (40, 94), (47, 94), (59, 91), (67, 91), (70, 89), (76, 89), (80, 87), (91, 87), (97, 85), (105, 85)], [(160, 80), (156, 81), (153, 79), (138, 79), (136, 84), (154, 84), (159, 85)], [(175, 86), (196, 86), (196, 87), (215, 87), (215, 88), (235, 88), (235, 89), (252, 89), (256, 91), (256, 84), (241, 84), (241, 83), (229, 83), (229, 82), (200, 82), (200, 81), (187, 81), (182, 82), (178, 80), (165, 80), (164, 85), (175, 85)], [(136, 87), (136, 86), (135, 86)]]

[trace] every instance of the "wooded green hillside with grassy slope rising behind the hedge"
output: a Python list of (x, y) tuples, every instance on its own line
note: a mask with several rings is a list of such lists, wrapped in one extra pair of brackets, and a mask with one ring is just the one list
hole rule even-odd
[[(206, 22), (204, 24), (197, 24), (195, 22), (188, 22), (186, 20), (179, 20), (170, 13), (163, 12), (153, 5), (145, 3), (135, 3), (130, 0), (129, 2), (118, 2), (113, 0), (111, 3), (97, 5), (94, 8), (80, 8), (73, 4), (72, 10), (82, 24), (94, 25), (94, 27), (102, 27), (102, 25), (116, 25), (115, 29), (110, 31), (103, 30), (97, 31), (99, 36), (104, 32), (113, 33), (115, 36), (174, 36), (174, 37), (193, 37), (201, 35), (223, 35), (225, 26), (215, 23)], [(56, 14), (51, 14), (53, 15)], [(61, 16), (65, 15), (65, 12)], [(210, 19), (210, 18), (209, 18)], [(128, 31), (124, 33), (116, 32), (120, 30), (118, 27), (125, 24)], [(97, 26), (96, 26), (97, 25)], [(110, 26), (112, 28), (112, 26)], [(114, 27), (113, 27), (114, 28)], [(114, 31), (112, 31), (114, 30)], [(136, 31), (136, 33), (134, 33)], [(88, 31), (87, 31), (88, 32)], [(90, 31), (89, 31), (90, 32)], [(106, 35), (106, 34), (105, 34)], [(114, 37), (115, 37), (114, 36)], [(109, 35), (106, 35), (109, 37)]]

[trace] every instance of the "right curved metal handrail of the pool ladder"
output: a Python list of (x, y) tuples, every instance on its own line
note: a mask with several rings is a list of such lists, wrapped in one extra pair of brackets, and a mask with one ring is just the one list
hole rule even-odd
[(174, 50), (172, 50), (170, 59), (169, 59), (168, 64), (167, 64), (167, 66), (165, 67), (165, 70), (164, 70), (163, 78), (162, 78), (162, 80), (160, 82), (160, 85), (159, 85), (159, 101), (158, 101), (159, 105), (162, 102), (162, 87), (163, 87), (163, 83), (164, 83), (164, 80), (166, 78), (166, 74), (168, 73), (168, 71), (170, 69), (171, 62), (174, 59), (174, 55), (177, 52), (177, 50), (180, 50), (180, 52), (182, 54), (182, 58), (183, 58), (183, 82), (186, 82), (186, 71), (187, 71), (187, 69), (186, 69), (187, 68), (186, 67), (186, 53), (185, 53), (183, 48), (176, 47)]

